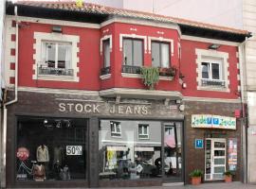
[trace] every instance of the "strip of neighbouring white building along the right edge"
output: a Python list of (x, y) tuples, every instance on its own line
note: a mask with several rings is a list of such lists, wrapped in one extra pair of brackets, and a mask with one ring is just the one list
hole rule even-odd
[(244, 0), (244, 28), (252, 32), (246, 43), (245, 90), (247, 90), (247, 181), (256, 183), (256, 1)]

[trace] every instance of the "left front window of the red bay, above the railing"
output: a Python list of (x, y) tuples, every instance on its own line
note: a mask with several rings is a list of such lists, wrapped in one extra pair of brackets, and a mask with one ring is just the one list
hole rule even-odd
[(143, 65), (143, 41), (123, 39), (123, 73), (137, 74)]

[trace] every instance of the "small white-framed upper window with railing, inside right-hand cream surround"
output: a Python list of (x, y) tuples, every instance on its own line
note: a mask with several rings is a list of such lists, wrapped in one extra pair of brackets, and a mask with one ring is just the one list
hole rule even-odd
[(225, 86), (221, 60), (204, 60), (201, 63), (202, 86)]

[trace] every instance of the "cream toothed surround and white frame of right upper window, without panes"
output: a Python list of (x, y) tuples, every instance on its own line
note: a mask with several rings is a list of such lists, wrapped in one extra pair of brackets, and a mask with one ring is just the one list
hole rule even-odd
[[(229, 53), (219, 52), (216, 50), (205, 50), (205, 49), (195, 49), (196, 59), (196, 81), (197, 90), (202, 91), (218, 91), (218, 92), (230, 92), (229, 89)], [(213, 61), (213, 62), (212, 62)], [(202, 62), (216, 63), (220, 65), (220, 78), (221, 79), (211, 79), (211, 80), (223, 80), (225, 81), (225, 86), (202, 86)], [(210, 71), (211, 72), (211, 71)]]

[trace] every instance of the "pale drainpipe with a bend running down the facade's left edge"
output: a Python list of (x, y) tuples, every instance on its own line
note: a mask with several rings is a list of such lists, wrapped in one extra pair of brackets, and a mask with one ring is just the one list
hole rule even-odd
[(14, 14), (15, 14), (15, 21), (16, 21), (16, 37), (15, 37), (15, 83), (14, 83), (14, 99), (10, 100), (7, 103), (4, 103), (4, 115), (3, 115), (3, 141), (2, 141), (2, 175), (1, 175), (1, 188), (6, 187), (6, 165), (7, 165), (7, 115), (8, 115), (8, 109), (7, 106), (15, 103), (18, 101), (18, 52), (19, 52), (19, 27), (18, 27), (18, 8), (17, 6), (14, 7)]

